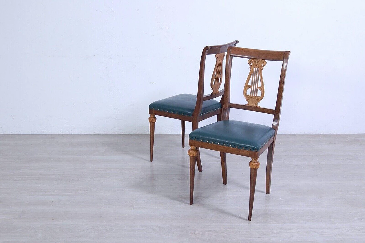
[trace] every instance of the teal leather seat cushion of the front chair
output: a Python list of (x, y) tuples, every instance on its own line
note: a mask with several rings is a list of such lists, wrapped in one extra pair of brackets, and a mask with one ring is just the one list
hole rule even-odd
[(228, 120), (195, 129), (189, 139), (258, 151), (274, 134), (269, 126)]

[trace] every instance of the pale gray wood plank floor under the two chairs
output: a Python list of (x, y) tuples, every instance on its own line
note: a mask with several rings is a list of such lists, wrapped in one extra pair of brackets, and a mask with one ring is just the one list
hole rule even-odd
[[(186, 139), (186, 141), (188, 141)], [(365, 134), (279, 135), (271, 194), (259, 161), (156, 135), (0, 135), (0, 242), (364, 242)]]

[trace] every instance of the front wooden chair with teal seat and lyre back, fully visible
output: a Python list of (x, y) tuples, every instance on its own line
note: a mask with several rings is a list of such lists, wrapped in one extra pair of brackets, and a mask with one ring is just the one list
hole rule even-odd
[[(252, 216), (257, 169), (260, 167), (258, 157), (266, 148), (269, 148), (266, 164), (266, 194), (270, 193), (271, 168), (280, 119), (281, 101), (283, 100), (285, 73), (287, 71), (289, 54), (289, 51), (278, 52), (238, 47), (228, 48), (224, 97), (222, 112), (220, 113), (221, 121), (195, 129), (189, 134), (189, 145), (191, 147), (188, 151), (188, 155), (190, 156), (190, 205), (193, 204), (195, 157), (199, 156), (199, 151), (196, 147), (212, 149), (220, 152), (224, 185), (227, 184), (226, 153), (251, 157), (251, 161), (249, 163), (251, 168), (249, 221), (251, 221)], [(248, 64), (250, 72), (243, 88), (243, 96), (247, 100), (246, 105), (230, 103), (230, 80), (233, 57), (249, 59)], [(262, 108), (258, 106), (258, 102), (264, 98), (265, 94), (262, 79), (262, 69), (266, 65), (265, 60), (282, 62), (275, 109)], [(250, 91), (247, 92), (248, 90)], [(274, 115), (272, 127), (229, 120), (230, 108), (272, 114)]]

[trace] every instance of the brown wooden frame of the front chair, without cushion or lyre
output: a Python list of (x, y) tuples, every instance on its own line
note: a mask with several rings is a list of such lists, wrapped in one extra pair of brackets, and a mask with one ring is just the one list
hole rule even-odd
[[(199, 150), (197, 150), (196, 147), (211, 149), (211, 150), (220, 152), (221, 163), (222, 163), (222, 178), (223, 178), (224, 185), (227, 184), (226, 153), (233, 153), (235, 155), (251, 157), (251, 161), (249, 163), (250, 170), (251, 170), (251, 172), (250, 172), (249, 218), (248, 218), (249, 221), (251, 221), (251, 217), (252, 217), (253, 200), (254, 200), (254, 194), (255, 194), (256, 178), (257, 178), (257, 169), (260, 167), (260, 162), (258, 162), (258, 158), (267, 148), (269, 148), (267, 163), (266, 163), (266, 194), (270, 194), (273, 154), (274, 154), (277, 129), (278, 129), (279, 120), (280, 120), (281, 103), (283, 101), (283, 90), (284, 90), (285, 75), (287, 72), (289, 54), (290, 54), (289, 51), (281, 52), (281, 51), (269, 51), (269, 50), (255, 50), (255, 49), (238, 48), (238, 47), (229, 47), (228, 48), (227, 57), (226, 57), (226, 74), (225, 74), (226, 76), (225, 76), (225, 82), (224, 82), (224, 96), (222, 97), (223, 104), (222, 104), (222, 112), (220, 113), (220, 116), (221, 116), (220, 120), (229, 119), (230, 108), (272, 114), (272, 115), (274, 115), (272, 128), (275, 130), (275, 133), (274, 133), (274, 136), (272, 138), (270, 138), (270, 140), (258, 151), (250, 151), (250, 150), (245, 150), (245, 149), (226, 147), (223, 145), (209, 144), (209, 143), (204, 143), (201, 141), (189, 139), (189, 145), (191, 147), (188, 151), (188, 155), (190, 156), (190, 205), (193, 204), (195, 157), (199, 156)], [(262, 107), (230, 103), (230, 82), (231, 82), (231, 68), (232, 68), (233, 57), (241, 57), (241, 58), (248, 58), (248, 59), (254, 58), (254, 59), (282, 62), (275, 109), (268, 109), (268, 108), (262, 108)]]

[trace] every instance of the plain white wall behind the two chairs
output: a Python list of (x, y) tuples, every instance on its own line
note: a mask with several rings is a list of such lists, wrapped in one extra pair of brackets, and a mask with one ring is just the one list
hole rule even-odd
[[(149, 103), (196, 94), (203, 47), (236, 39), (291, 51), (279, 133), (365, 133), (364, 12), (363, 1), (2, 1), (0, 133), (148, 133)], [(245, 103), (240, 61), (231, 101)], [(156, 133), (180, 131), (157, 117)]]

